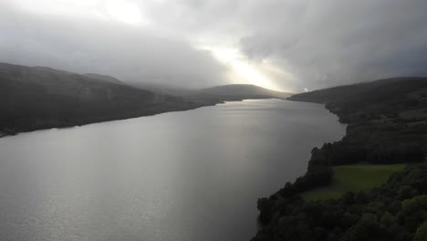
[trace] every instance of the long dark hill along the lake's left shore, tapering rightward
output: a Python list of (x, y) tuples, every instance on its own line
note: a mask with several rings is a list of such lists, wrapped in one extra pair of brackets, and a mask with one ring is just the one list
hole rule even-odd
[[(0, 63), (0, 134), (189, 110), (185, 101), (100, 75)], [(2, 134), (3, 133), (3, 134)]]

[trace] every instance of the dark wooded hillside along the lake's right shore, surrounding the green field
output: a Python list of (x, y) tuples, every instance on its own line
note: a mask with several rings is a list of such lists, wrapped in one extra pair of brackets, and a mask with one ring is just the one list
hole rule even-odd
[[(347, 134), (314, 148), (305, 175), (258, 199), (263, 227), (253, 240), (427, 240), (427, 120), (399, 115), (427, 106), (426, 87), (427, 79), (389, 79), (293, 96), (326, 103), (349, 123)], [(356, 162), (412, 164), (371, 192), (308, 203), (299, 196), (330, 184), (332, 166)]]

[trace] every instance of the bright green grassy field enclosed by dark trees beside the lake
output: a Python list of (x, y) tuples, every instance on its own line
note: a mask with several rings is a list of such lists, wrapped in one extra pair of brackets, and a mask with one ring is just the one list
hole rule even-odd
[(370, 190), (386, 183), (391, 174), (401, 172), (405, 164), (357, 164), (334, 167), (333, 183), (301, 194), (306, 201), (338, 198), (349, 191)]

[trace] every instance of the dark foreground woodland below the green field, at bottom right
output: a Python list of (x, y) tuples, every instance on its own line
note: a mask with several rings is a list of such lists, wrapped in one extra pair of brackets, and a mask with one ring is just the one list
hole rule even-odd
[(338, 200), (306, 203), (285, 190), (258, 202), (268, 209), (270, 225), (253, 241), (427, 240), (426, 163), (409, 166), (381, 188)]

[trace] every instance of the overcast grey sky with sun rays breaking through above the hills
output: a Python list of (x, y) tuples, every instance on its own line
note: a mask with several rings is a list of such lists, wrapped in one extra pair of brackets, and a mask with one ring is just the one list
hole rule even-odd
[(0, 62), (291, 92), (427, 75), (425, 0), (0, 0)]

